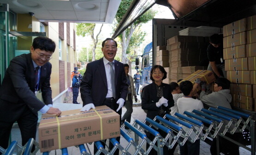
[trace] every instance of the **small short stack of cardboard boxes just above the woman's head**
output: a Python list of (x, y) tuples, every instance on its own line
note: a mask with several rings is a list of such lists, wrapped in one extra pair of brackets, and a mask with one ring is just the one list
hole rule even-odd
[(169, 67), (169, 52), (166, 50), (166, 46), (156, 47), (155, 63), (163, 67)]

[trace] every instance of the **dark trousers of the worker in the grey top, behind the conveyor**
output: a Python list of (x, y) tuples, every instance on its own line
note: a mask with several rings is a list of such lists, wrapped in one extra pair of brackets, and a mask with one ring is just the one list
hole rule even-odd
[[(234, 133), (233, 135), (230, 133), (225, 134), (226, 137), (232, 138), (235, 141), (239, 141), (239, 139), (242, 137), (241, 133)], [(219, 136), (219, 144), (220, 144), (220, 152), (224, 155), (239, 155), (239, 146), (237, 144), (234, 144), (230, 142), (229, 140), (222, 138)], [(210, 148), (212, 155), (217, 155), (217, 144), (216, 144), (216, 138), (213, 139), (213, 143)]]

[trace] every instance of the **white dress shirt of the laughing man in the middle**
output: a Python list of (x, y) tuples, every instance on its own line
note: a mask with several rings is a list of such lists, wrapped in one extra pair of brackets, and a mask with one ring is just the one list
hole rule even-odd
[[(103, 63), (105, 66), (105, 71), (106, 71), (106, 77), (107, 77), (107, 96), (106, 98), (112, 98), (113, 97), (113, 92), (112, 92), (112, 83), (111, 83), (111, 74), (110, 74), (110, 68), (111, 66), (108, 64), (109, 61), (103, 57)], [(111, 62), (112, 63), (112, 62)], [(115, 65), (114, 65), (114, 61), (113, 61), (113, 69), (115, 70)]]

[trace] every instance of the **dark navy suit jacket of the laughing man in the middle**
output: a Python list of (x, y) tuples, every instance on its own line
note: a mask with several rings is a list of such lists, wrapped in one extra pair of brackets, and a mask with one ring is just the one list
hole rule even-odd
[[(125, 100), (128, 85), (126, 84), (124, 64), (114, 60), (114, 65), (116, 100), (119, 98)], [(80, 93), (83, 106), (89, 103), (94, 103), (95, 106), (103, 105), (107, 96), (107, 76), (103, 58), (87, 64), (83, 80), (80, 84)], [(117, 109), (118, 104), (116, 106)]]

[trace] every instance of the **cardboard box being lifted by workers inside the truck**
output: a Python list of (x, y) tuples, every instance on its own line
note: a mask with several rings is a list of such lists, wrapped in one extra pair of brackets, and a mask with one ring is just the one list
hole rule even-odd
[(200, 80), (202, 80), (202, 81), (206, 81), (207, 84), (212, 83), (215, 80), (215, 76), (214, 76), (212, 71), (210, 71), (210, 70), (197, 70), (196, 72), (189, 75), (187, 78), (183, 79), (182, 81), (189, 80), (194, 84), (195, 80), (197, 78), (200, 78)]

